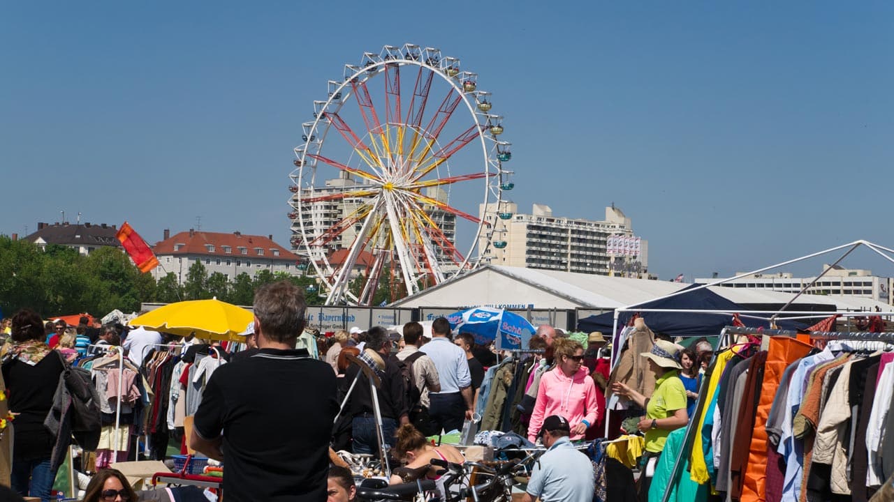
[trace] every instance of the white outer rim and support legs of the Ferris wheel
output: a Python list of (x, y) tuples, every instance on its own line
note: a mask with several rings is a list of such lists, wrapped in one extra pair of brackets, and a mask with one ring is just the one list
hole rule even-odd
[[(414, 55), (417, 56), (416, 59), (409, 57), (410, 49), (414, 50)], [(383, 57), (382, 54), (386, 54), (386, 56)], [(426, 54), (428, 55), (428, 57), (426, 57)], [(437, 56), (436, 65), (429, 63), (429, 59), (432, 54), (436, 54)], [(329, 81), (330, 88), (328, 98), (325, 101), (315, 101), (314, 121), (305, 122), (305, 124), (303, 124), (304, 136), (306, 140), (300, 146), (294, 149), (295, 155), (298, 157), (298, 169), (297, 175), (293, 172), (291, 176), (292, 180), (298, 185), (298, 192), (296, 194), (298, 196), (298, 203), (301, 200), (301, 196), (305, 188), (310, 188), (311, 191), (309, 195), (310, 197), (313, 197), (313, 192), (316, 189), (317, 167), (320, 161), (318, 161), (316, 158), (308, 158), (308, 154), (311, 154), (310, 151), (313, 148), (313, 153), (311, 155), (322, 155), (323, 148), (325, 146), (325, 138), (333, 127), (333, 122), (325, 118), (325, 113), (337, 114), (342, 110), (342, 106), (348, 103), (350, 97), (352, 96), (350, 92), (350, 84), (352, 82), (355, 84), (365, 84), (367, 80), (372, 79), (375, 76), (384, 74), (386, 65), (395, 65), (398, 68), (400, 68), (401, 66), (417, 66), (420, 69), (417, 77), (418, 79), (423, 78), (423, 75), (425, 74), (424, 71), (430, 71), (434, 73), (435, 75), (443, 79), (443, 81), (447, 82), (447, 84), (450, 86), (451, 91), (448, 91), (447, 96), (450, 96), (452, 92), (455, 92), (458, 96), (460, 96), (463, 104), (466, 105), (468, 113), (472, 116), (472, 120), (475, 122), (474, 126), (477, 130), (477, 139), (481, 145), (482, 155), (484, 156), (485, 172), (485, 211), (484, 214), (481, 214), (479, 222), (477, 222), (477, 230), (475, 232), (475, 236), (468, 247), (468, 251), (466, 251), (465, 255), (462, 256), (463, 261), (461, 264), (459, 264), (457, 270), (451, 273), (442, 270), (442, 267), (434, 256), (434, 250), (432, 248), (433, 243), (430, 239), (426, 239), (426, 241), (420, 242), (418, 244), (422, 247), (424, 253), (426, 254), (427, 261), (431, 267), (430, 272), (432, 272), (435, 283), (440, 283), (443, 282), (443, 280), (448, 279), (448, 275), (452, 277), (463, 272), (468, 272), (468, 270), (474, 269), (478, 266), (478, 264), (480, 264), (480, 257), (485, 255), (487, 249), (492, 245), (495, 222), (494, 224), (487, 222), (486, 218), (486, 215), (490, 213), (490, 203), (492, 202), (490, 196), (493, 195), (493, 203), (496, 206), (496, 209), (495, 211), (493, 211), (493, 213), (499, 213), (501, 211), (502, 205), (505, 203), (505, 201), (502, 200), (503, 178), (504, 176), (508, 176), (511, 174), (511, 171), (506, 171), (502, 168), (502, 161), (499, 157), (496, 157), (495, 155), (492, 157), (491, 155), (492, 151), (494, 153), (499, 152), (499, 146), (509, 146), (510, 143), (498, 139), (495, 136), (489, 137), (487, 135), (487, 132), (490, 130), (491, 127), (493, 127), (490, 123), (491, 120), (498, 121), (496, 125), (502, 127), (502, 116), (494, 115), (490, 113), (490, 110), (480, 112), (477, 110), (477, 96), (485, 96), (486, 100), (487, 96), (491, 96), (491, 93), (480, 91), (477, 89), (477, 73), (470, 71), (458, 71), (453, 76), (449, 75), (447, 73), (448, 69), (455, 68), (459, 70), (458, 65), (460, 63), (460, 60), (452, 57), (442, 57), (440, 49), (432, 47), (426, 47), (423, 49), (419, 46), (412, 46), (409, 44), (403, 46), (402, 49), (395, 46), (385, 46), (382, 53), (380, 54), (365, 53), (364, 59), (366, 60), (365, 64), (346, 64), (344, 79), (342, 79), (341, 82), (333, 80)], [(474, 91), (466, 91), (463, 87), (465, 83), (463, 79), (468, 77), (475, 78), (473, 79), (473, 81), (476, 82), (476, 89)], [(470, 98), (470, 96), (473, 97)], [(426, 92), (426, 101), (427, 98), (428, 96)], [(356, 98), (355, 101), (357, 101)], [(373, 108), (375, 109), (375, 106), (373, 106)], [(482, 115), (483, 118), (485, 118), (484, 122), (479, 121), (479, 114)], [(409, 117), (409, 113), (407, 117)], [(412, 127), (409, 124), (405, 123), (406, 121), (404, 121), (401, 117), (397, 117), (397, 119), (399, 121), (385, 121), (382, 125), (399, 124), (406, 127), (408, 130), (412, 129)], [(322, 128), (320, 128), (321, 121), (325, 124), (325, 126)], [(450, 121), (450, 117), (447, 118), (447, 121)], [(444, 123), (446, 124), (447, 121), (445, 121)], [(425, 129), (422, 128), (422, 130)], [(319, 132), (320, 134), (317, 134), (317, 132)], [(367, 133), (372, 134), (373, 131), (367, 131)], [(318, 138), (316, 138), (317, 136)], [(472, 139), (470, 140), (470, 142), (471, 141), (475, 140)], [(449, 172), (450, 163), (449, 161), (445, 161), (445, 163)], [(301, 235), (301, 243), (299, 247), (302, 247), (303, 250), (307, 253), (308, 262), (316, 270), (317, 279), (320, 281), (321, 285), (329, 290), (326, 296), (325, 305), (333, 305), (346, 300), (352, 300), (355, 302), (358, 301), (358, 298), (354, 297), (354, 295), (351, 294), (348, 290), (350, 282), (350, 272), (356, 264), (360, 252), (365, 247), (364, 238), (367, 236), (370, 223), (373, 222), (376, 219), (376, 215), (383, 210), (383, 208), (380, 207), (381, 205), (385, 206), (384, 211), (386, 212), (386, 214), (384, 215), (384, 218), (387, 219), (390, 226), (392, 248), (393, 251), (397, 253), (398, 260), (400, 261), (401, 274), (407, 287), (408, 294), (417, 292), (417, 280), (419, 280), (427, 272), (429, 272), (426, 269), (419, 270), (418, 267), (414, 265), (415, 261), (409, 256), (409, 243), (403, 241), (404, 239), (402, 238), (401, 231), (399, 231), (400, 228), (398, 225), (400, 224), (400, 218), (397, 214), (398, 208), (400, 208), (400, 211), (403, 214), (412, 213), (409, 210), (408, 202), (405, 200), (401, 200), (401, 197), (397, 197), (395, 192), (393, 192), (392, 190), (384, 189), (385, 183), (383, 182), (382, 178), (385, 178), (387, 168), (383, 169), (383, 172), (377, 172), (375, 170), (375, 167), (373, 166), (370, 166), (370, 168), (380, 179), (367, 180), (367, 183), (374, 187), (377, 186), (380, 191), (375, 195), (362, 197), (365, 199), (366, 204), (372, 206), (372, 209), (369, 211), (369, 213), (367, 213), (366, 216), (362, 218), (362, 226), (360, 230), (356, 231), (354, 242), (350, 247), (349, 254), (344, 259), (344, 263), (338, 270), (335, 277), (333, 277), (335, 269), (333, 268), (332, 264), (329, 263), (328, 258), (325, 256), (325, 253), (321, 254), (318, 258), (315, 258), (314, 250), (311, 249), (310, 243), (312, 242), (313, 238), (319, 237), (314, 235), (312, 233), (312, 230), (308, 228), (313, 226), (313, 216), (309, 218), (308, 225), (306, 226), (306, 218), (304, 212), (301, 210), (300, 207), (297, 206), (299, 204), (291, 203), (291, 200), (293, 200), (294, 197), (290, 198), (290, 205), (292, 205), (295, 211), (298, 212), (298, 217), (296, 219), (293, 219), (293, 224), (295, 221), (299, 223), (299, 231)], [(309, 182), (304, 180), (307, 175), (306, 171), (310, 174)], [(307, 185), (303, 186), (302, 183), (307, 183)], [(470, 259), (473, 255), (473, 252), (475, 251), (476, 247), (479, 247), (479, 242), (482, 238), (482, 232), (485, 231), (485, 227), (490, 229), (488, 232), (485, 233), (485, 247), (479, 248), (479, 259), (470, 264)], [(372, 277), (367, 278), (367, 281), (370, 280), (374, 279)]]

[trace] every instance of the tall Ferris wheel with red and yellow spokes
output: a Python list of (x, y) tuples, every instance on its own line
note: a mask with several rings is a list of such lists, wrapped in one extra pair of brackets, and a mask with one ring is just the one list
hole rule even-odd
[(511, 217), (512, 154), (492, 107), (477, 73), (431, 47), (384, 46), (329, 80), (302, 124), (288, 214), (326, 305), (372, 305), (386, 286), (392, 301), (506, 246), (494, 224)]

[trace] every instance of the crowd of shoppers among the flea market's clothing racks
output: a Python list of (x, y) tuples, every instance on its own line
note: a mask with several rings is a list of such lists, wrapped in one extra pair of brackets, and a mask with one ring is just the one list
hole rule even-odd
[[(418, 322), (406, 323), (401, 332), (353, 327), (319, 337), (313, 349), (296, 348), (307, 328), (305, 309), (301, 291), (289, 282), (259, 289), (245, 343), (229, 357), (230, 364), (216, 368), (201, 394), (187, 440), (191, 448), (223, 461), (228, 500), (352, 500), (356, 487), (350, 471), (331, 466), (331, 452), (342, 449), (373, 456), (390, 451), (409, 467), (432, 458), (463, 461), (459, 449), (435, 447), (426, 438), (480, 420), (476, 409), (485, 372), (498, 361), (493, 346), (468, 333), (452, 333), (450, 323), (439, 318), (430, 333)], [(165, 339), (154, 331), (123, 328), (89, 318), (75, 327), (44, 322), (27, 309), (0, 325), (8, 337), (2, 360), (14, 414), (14, 491), (51, 497), (56, 473), (50, 458), (57, 438), (44, 421), (68, 364), (108, 345), (122, 346), (139, 367), (147, 348)], [(609, 340), (602, 333), (585, 337), (544, 325), (526, 347), (540, 371), (522, 382), (530, 411), (523, 436), (546, 448), (527, 485), (532, 500), (592, 498), (592, 466), (572, 441), (603, 436), (609, 393), (642, 410), (636, 429), (645, 435), (645, 472), (668, 433), (692, 415), (699, 369), (710, 357), (705, 356), (710, 345), (688, 349), (656, 340), (638, 355), (654, 373), (654, 392), (646, 396), (611, 381)], [(434, 469), (428, 477), (438, 479)], [(647, 493), (648, 477), (640, 479), (640, 493)], [(391, 481), (406, 480), (392, 476)], [(85, 497), (112, 501), (138, 495), (114, 470), (103, 470)]]

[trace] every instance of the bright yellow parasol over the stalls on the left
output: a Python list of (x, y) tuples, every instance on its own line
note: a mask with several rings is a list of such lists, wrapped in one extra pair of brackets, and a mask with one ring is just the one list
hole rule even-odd
[(181, 337), (194, 332), (200, 339), (245, 341), (240, 333), (253, 319), (249, 310), (214, 298), (164, 305), (140, 315), (129, 324)]

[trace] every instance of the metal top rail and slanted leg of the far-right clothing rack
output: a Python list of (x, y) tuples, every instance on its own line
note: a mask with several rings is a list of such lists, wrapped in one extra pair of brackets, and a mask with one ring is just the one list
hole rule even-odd
[[(856, 313), (859, 315), (859, 313)], [(865, 313), (864, 313), (865, 315)], [(827, 315), (828, 317), (828, 315)], [(854, 339), (859, 341), (886, 341), (886, 342), (894, 342), (894, 332), (886, 331), (881, 333), (873, 333), (871, 331), (805, 331), (799, 332), (796, 330), (767, 330), (761, 328), (746, 328), (740, 326), (727, 326), (721, 330), (721, 338), (724, 335), (769, 335), (769, 336), (785, 336), (794, 338), (797, 335), (807, 335), (811, 339), (819, 339), (819, 340), (847, 340)], [(709, 368), (713, 368), (714, 360), (716, 359), (716, 353), (711, 360), (711, 364), (708, 366)], [(704, 381), (708, 381), (711, 377), (711, 373), (705, 373)], [(700, 402), (707, 397), (708, 386), (703, 385), (700, 389), (698, 389), (698, 399), (696, 400), (696, 409), (698, 409), (698, 405)], [(677, 479), (679, 475), (679, 470), (682, 469), (683, 466), (683, 458), (684, 455), (688, 456), (692, 450), (692, 441), (695, 439), (697, 431), (697, 423), (695, 420), (689, 420), (686, 426), (686, 434), (683, 438), (683, 445), (677, 453), (677, 457), (674, 460), (673, 469), (671, 470), (671, 480)], [(668, 502), (668, 498), (671, 495), (671, 485), (668, 485), (664, 489), (664, 494), (662, 495), (661, 502)]]

